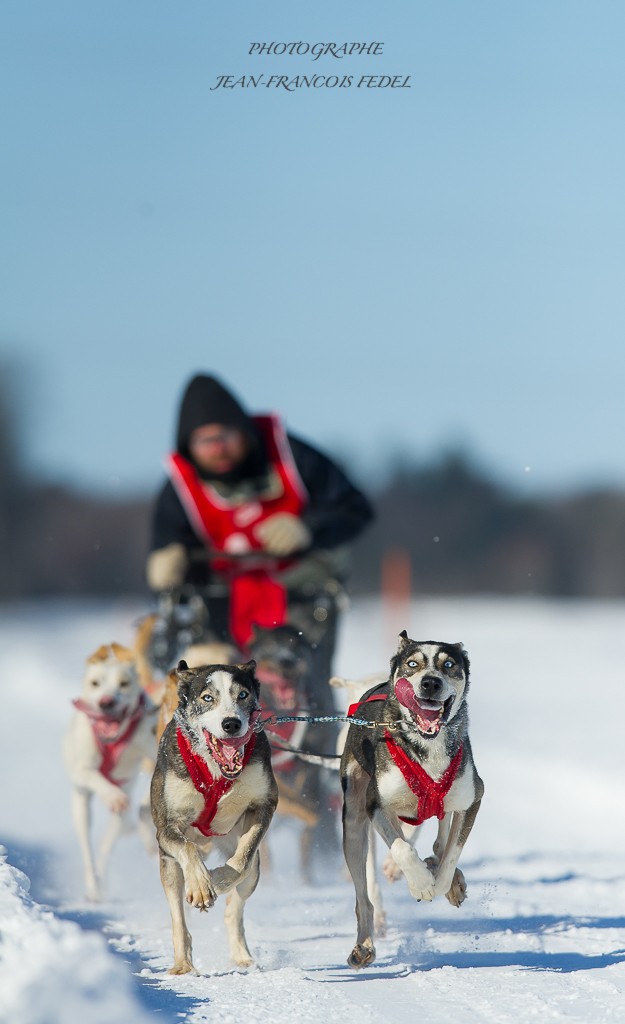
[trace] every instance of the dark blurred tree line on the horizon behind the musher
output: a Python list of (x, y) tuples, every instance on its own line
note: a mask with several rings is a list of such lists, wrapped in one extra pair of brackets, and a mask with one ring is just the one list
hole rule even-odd
[[(0, 599), (144, 595), (153, 496), (107, 501), (23, 471), (0, 388)], [(350, 591), (376, 593), (389, 549), (415, 594), (625, 595), (625, 493), (526, 500), (448, 454), (398, 464), (369, 495), (377, 519), (353, 550)]]

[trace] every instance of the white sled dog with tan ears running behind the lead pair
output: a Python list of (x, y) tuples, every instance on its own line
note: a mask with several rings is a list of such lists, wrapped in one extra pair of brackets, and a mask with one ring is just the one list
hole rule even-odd
[[(141, 768), (154, 767), (156, 709), (141, 689), (133, 652), (105, 644), (87, 658), (82, 696), (64, 740), (64, 759), (73, 783), (72, 812), (85, 870), (87, 899), (100, 898), (100, 883), (113, 846), (124, 826), (129, 790)], [(93, 796), (111, 811), (95, 863), (90, 835)], [(155, 852), (148, 799), (139, 808), (139, 830)]]

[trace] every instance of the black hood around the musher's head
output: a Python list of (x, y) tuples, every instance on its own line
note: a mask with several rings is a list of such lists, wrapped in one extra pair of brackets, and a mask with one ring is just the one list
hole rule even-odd
[(255, 423), (216, 377), (198, 374), (189, 382), (182, 395), (176, 431), (176, 451), (191, 462), (193, 462), (189, 451), (191, 435), (194, 430), (207, 423), (220, 423), (224, 427), (234, 427), (236, 430), (241, 430), (248, 438), (248, 456), (241, 466), (227, 474), (227, 479), (262, 472), (265, 460)]

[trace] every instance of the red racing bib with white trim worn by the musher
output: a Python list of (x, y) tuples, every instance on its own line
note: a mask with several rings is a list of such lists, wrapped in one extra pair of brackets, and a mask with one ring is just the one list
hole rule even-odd
[[(281, 482), (278, 495), (262, 495), (235, 504), (224, 499), (207, 480), (203, 480), (194, 465), (178, 453), (167, 460), (171, 482), (200, 540), (209, 551), (245, 554), (261, 551), (254, 530), (260, 522), (277, 512), (299, 515), (308, 496), (299, 476), (284, 427), (276, 416), (253, 418), (258, 427), (270, 468)], [(258, 626), (282, 626), (287, 616), (284, 587), (266, 567), (253, 568), (211, 557), (210, 564), (227, 578), (231, 597), (231, 634), (245, 648), (254, 623)], [(275, 560), (276, 569), (286, 568), (292, 559)]]

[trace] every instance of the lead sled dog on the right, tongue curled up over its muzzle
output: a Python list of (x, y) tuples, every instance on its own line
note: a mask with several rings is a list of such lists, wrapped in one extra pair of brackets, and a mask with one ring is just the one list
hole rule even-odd
[[(347, 963), (375, 959), (373, 905), (367, 894), (369, 821), (382, 837), (416, 900), (466, 896), (456, 866), (484, 794), (468, 738), (469, 662), (461, 644), (400, 634), (390, 678), (350, 708), (369, 729), (350, 725), (341, 758), (343, 850), (356, 889), (357, 941)], [(402, 822), (437, 817), (433, 857), (421, 860)]]

